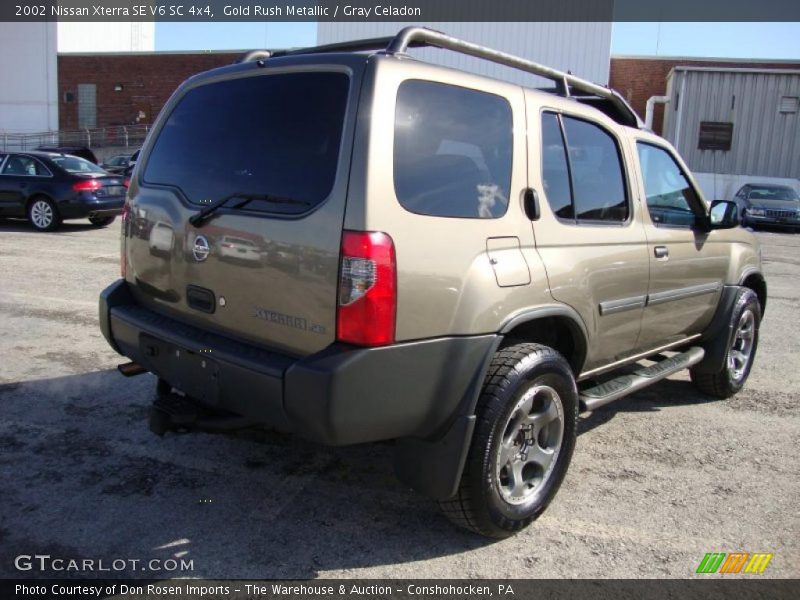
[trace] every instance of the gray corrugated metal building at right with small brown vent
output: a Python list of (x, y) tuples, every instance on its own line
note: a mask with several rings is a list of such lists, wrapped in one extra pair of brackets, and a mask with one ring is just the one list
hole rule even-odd
[[(693, 171), (800, 178), (800, 71), (675, 67), (667, 90), (664, 135)], [(708, 121), (733, 125), (730, 150), (698, 148)]]

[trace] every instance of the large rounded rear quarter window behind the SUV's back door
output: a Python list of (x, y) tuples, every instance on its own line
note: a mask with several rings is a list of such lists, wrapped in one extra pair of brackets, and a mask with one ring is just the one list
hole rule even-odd
[(512, 118), (493, 94), (426, 81), (397, 92), (394, 186), (411, 212), (490, 219), (505, 214)]

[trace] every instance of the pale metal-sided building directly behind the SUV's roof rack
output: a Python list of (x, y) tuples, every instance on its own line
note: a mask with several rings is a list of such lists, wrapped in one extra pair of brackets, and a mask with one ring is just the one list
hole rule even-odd
[[(317, 43), (330, 44), (391, 36), (410, 23), (322, 23)], [(578, 77), (606, 85), (611, 62), (611, 23), (424, 23), (448, 35), (489, 46)], [(485, 60), (439, 50), (418, 48), (412, 56), (448, 67), (528, 86), (552, 83)]]

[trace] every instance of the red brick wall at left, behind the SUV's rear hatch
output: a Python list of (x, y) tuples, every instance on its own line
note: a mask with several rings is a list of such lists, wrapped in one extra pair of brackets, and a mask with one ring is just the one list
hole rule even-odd
[[(61, 54), (59, 128), (78, 128), (78, 84), (97, 86), (97, 127), (149, 124), (187, 77), (229, 65), (240, 56), (241, 53)], [(120, 85), (122, 90), (114, 91)], [(73, 94), (71, 102), (66, 101), (67, 92)]]

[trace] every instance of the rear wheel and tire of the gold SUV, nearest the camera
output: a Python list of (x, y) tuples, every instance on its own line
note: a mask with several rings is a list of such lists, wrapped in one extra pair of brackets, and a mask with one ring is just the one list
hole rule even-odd
[(456, 495), (440, 502), (455, 524), (509, 537), (555, 496), (575, 449), (578, 390), (569, 363), (547, 346), (518, 343), (492, 359)]

